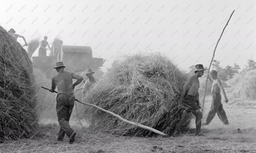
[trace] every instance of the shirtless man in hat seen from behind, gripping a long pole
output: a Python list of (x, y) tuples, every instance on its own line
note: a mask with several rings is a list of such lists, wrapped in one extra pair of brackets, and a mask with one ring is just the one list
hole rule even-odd
[[(60, 131), (57, 140), (62, 141), (66, 133), (66, 135), (68, 135), (70, 138), (69, 143), (73, 143), (75, 141), (76, 132), (71, 129), (69, 125), (69, 119), (75, 102), (73, 89), (76, 85), (82, 82), (83, 77), (64, 71), (65, 66), (63, 62), (57, 62), (54, 68), (56, 68), (58, 74), (51, 80), (52, 82), (50, 92), (54, 92), (54, 89), (57, 86), (58, 95), (56, 110), (60, 124)], [(73, 84), (72, 79), (77, 79), (77, 81)]]

